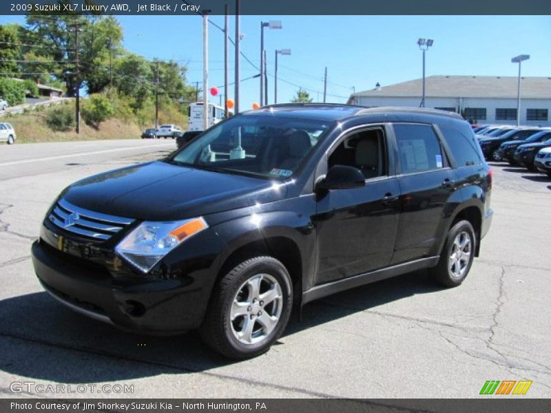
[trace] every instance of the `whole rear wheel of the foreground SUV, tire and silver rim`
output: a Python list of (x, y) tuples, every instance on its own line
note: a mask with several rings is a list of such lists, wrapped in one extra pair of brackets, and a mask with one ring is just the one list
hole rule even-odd
[(475, 247), (475, 230), (470, 222), (456, 222), (448, 231), (440, 260), (437, 266), (430, 268), (430, 275), (443, 286), (459, 286), (470, 271), (475, 257)]

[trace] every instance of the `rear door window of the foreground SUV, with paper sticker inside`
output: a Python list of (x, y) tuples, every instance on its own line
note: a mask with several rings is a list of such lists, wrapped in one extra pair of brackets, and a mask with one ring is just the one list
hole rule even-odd
[(444, 157), (440, 142), (430, 125), (397, 123), (394, 133), (402, 173), (441, 169)]

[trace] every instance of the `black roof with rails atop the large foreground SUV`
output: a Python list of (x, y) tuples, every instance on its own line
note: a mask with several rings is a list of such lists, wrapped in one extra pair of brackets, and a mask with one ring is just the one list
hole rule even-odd
[(426, 109), (424, 107), (364, 107), (344, 105), (339, 103), (282, 103), (267, 105), (260, 109), (243, 112), (244, 115), (270, 114), (271, 116), (291, 116), (293, 118), (310, 118), (320, 120), (342, 120), (360, 115), (375, 114), (412, 114), (444, 116), (462, 120), (461, 115), (438, 109)]

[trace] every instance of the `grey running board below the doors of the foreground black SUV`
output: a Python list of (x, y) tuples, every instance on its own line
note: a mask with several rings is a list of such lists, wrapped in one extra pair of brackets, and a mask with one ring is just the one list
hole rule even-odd
[(355, 288), (363, 286), (364, 284), (371, 284), (382, 279), (396, 277), (412, 271), (422, 270), (423, 268), (430, 268), (438, 264), (440, 257), (427, 257), (419, 260), (404, 262), (404, 264), (398, 264), (395, 266), (381, 268), (380, 270), (371, 271), (370, 273), (364, 273), (360, 275), (354, 275), (338, 281), (330, 282), (328, 284), (322, 284), (315, 286), (302, 293), (302, 304), (309, 303), (315, 299), (326, 297), (341, 291), (348, 290), (349, 288)]

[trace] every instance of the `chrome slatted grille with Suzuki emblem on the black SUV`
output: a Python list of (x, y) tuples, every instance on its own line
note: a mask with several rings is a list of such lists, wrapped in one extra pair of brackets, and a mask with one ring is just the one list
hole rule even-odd
[(48, 220), (65, 231), (102, 241), (109, 240), (118, 231), (134, 222), (132, 218), (116, 217), (76, 207), (66, 200), (59, 200), (54, 205)]

